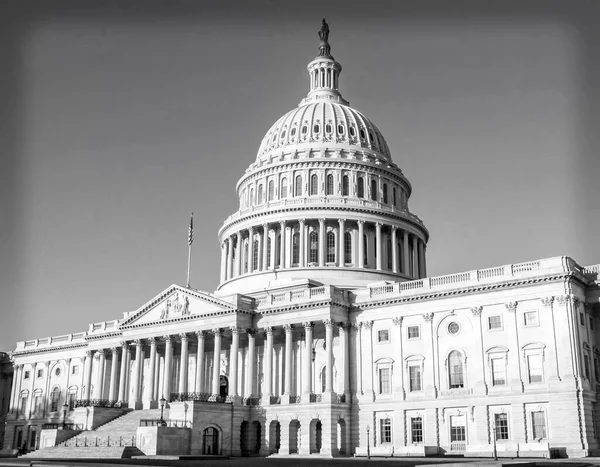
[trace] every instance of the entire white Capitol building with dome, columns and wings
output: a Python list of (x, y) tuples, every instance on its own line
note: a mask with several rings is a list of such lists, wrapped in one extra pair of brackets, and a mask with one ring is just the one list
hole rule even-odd
[(307, 96), (236, 186), (218, 289), (172, 285), (87, 331), (18, 342), (5, 450), (600, 452), (600, 265), (427, 276), (412, 186), (342, 97), (325, 21), (319, 37)]

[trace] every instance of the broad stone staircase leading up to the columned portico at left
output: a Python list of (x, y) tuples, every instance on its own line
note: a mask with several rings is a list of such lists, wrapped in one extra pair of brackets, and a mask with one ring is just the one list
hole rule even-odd
[[(165, 413), (165, 418), (167, 417)], [(106, 457), (123, 458), (144, 455), (135, 447), (136, 431), (143, 419), (159, 419), (160, 409), (133, 410), (95, 430), (82, 431), (58, 446), (40, 449), (25, 458)]]

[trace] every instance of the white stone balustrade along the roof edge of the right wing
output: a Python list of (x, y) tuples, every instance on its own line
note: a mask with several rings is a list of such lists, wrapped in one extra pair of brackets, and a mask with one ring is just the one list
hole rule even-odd
[(574, 261), (566, 257), (547, 258), (526, 263), (508, 264), (487, 269), (459, 272), (445, 276), (427, 277), (408, 282), (395, 282), (368, 287), (368, 295), (359, 294), (357, 302), (365, 299), (378, 299), (390, 295), (413, 295), (437, 290), (448, 290), (457, 287), (497, 282), (512, 278), (539, 276), (561, 272), (582, 272), (586, 275), (598, 274), (600, 265), (589, 266), (583, 270)]

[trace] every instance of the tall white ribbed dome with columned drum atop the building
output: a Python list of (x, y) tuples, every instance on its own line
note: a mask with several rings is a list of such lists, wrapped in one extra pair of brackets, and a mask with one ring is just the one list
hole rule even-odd
[(297, 281), (354, 288), (426, 275), (429, 233), (375, 124), (339, 91), (327, 37), (309, 92), (265, 134), (219, 231), (218, 293)]

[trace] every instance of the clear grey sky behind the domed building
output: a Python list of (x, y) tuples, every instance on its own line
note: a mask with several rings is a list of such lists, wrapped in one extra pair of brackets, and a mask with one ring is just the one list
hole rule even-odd
[(0, 6), (0, 350), (184, 284), (191, 211), (192, 286), (215, 290), (235, 184), (305, 96), (322, 17), (430, 275), (600, 263), (600, 2), (85, 3)]

